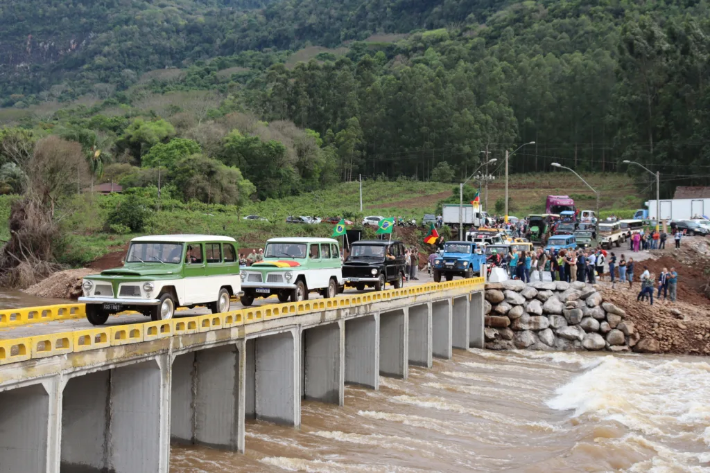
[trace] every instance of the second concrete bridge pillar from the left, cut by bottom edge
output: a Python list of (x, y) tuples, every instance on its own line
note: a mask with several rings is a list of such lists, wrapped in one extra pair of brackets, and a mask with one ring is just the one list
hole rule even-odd
[(62, 472), (168, 472), (166, 358), (69, 379), (62, 395)]

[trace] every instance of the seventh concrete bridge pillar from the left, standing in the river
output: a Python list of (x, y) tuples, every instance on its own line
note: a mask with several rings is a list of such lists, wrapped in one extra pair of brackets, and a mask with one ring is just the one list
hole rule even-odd
[(404, 309), (380, 314), (380, 374), (407, 379), (408, 338), (408, 314)]

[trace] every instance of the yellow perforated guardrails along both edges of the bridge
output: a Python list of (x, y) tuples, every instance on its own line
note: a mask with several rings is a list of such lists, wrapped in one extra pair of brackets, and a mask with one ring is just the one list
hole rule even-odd
[[(207, 332), (222, 328), (232, 328), (249, 323), (273, 320), (280, 317), (305, 315), (307, 313), (336, 310), (352, 306), (362, 306), (373, 302), (388, 301), (404, 297), (429, 294), (445, 289), (457, 289), (476, 284), (484, 284), (485, 279), (457, 279), (437, 284), (422, 284), (403, 289), (368, 292), (337, 296), (333, 299), (316, 299), (287, 304), (243, 308), (239, 311), (214, 313), (205, 316), (173, 318), (168, 321), (131, 323), (112, 327), (76, 330), (63, 333), (35, 335), (27, 338), (0, 340), (0, 365), (22, 362), (33, 358), (65, 355), (70, 352), (98, 350), (118, 345), (129, 345), (143, 341), (159, 340), (173, 335)], [(10, 314), (10, 315), (8, 315)], [(79, 315), (80, 314), (80, 315)], [(60, 304), (58, 306), (29, 307), (0, 311), (14, 325), (19, 321), (56, 321), (85, 316), (84, 304)], [(12, 316), (12, 317), (10, 317)], [(27, 322), (25, 322), (27, 323)], [(6, 325), (13, 326), (13, 325)]]

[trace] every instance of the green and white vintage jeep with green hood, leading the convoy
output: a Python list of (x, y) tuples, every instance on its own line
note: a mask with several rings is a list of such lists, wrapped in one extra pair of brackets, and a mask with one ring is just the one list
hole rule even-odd
[(124, 267), (84, 277), (87, 319), (138, 311), (153, 321), (173, 318), (175, 308), (207, 305), (227, 312), (230, 296), (241, 296), (234, 238), (215, 235), (153, 235), (133, 238)]

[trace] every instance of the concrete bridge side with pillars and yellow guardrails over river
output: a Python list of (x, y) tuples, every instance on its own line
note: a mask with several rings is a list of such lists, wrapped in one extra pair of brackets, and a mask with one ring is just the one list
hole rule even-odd
[[(83, 311), (64, 309), (0, 322)], [(244, 452), (246, 419), (298, 427), (301, 399), (342, 406), (344, 384), (483, 346), (483, 278), (6, 338), (0, 473), (167, 473), (171, 441)]]

